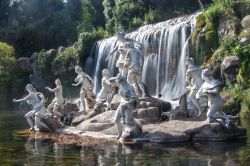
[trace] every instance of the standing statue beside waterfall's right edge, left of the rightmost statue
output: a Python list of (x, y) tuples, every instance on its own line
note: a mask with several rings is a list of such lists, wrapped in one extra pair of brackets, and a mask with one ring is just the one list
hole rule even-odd
[(188, 97), (191, 100), (192, 104), (198, 109), (199, 113), (197, 117), (199, 117), (202, 115), (203, 109), (200, 106), (199, 102), (196, 100), (195, 96), (204, 81), (201, 78), (201, 69), (200, 67), (194, 65), (193, 58), (189, 58), (187, 60), (187, 67), (186, 82), (188, 86), (186, 88), (189, 91)]

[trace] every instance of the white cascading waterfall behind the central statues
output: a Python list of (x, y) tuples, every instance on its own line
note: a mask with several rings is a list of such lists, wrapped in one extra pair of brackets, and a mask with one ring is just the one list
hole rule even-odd
[[(173, 100), (185, 92), (185, 58), (189, 56), (189, 38), (196, 15), (145, 25), (126, 35), (143, 45), (142, 81), (151, 95), (162, 94), (164, 100)], [(115, 37), (98, 41), (87, 60), (86, 67), (92, 72), (89, 74), (94, 76), (95, 92), (100, 89), (102, 69), (108, 68), (112, 75), (118, 72), (115, 67), (118, 53), (105, 60), (116, 44)]]

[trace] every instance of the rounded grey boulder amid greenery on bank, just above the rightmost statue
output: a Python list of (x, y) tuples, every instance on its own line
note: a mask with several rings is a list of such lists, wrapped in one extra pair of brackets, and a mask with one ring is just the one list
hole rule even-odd
[(227, 85), (236, 82), (236, 76), (240, 67), (239, 58), (227, 56), (221, 64), (221, 77)]

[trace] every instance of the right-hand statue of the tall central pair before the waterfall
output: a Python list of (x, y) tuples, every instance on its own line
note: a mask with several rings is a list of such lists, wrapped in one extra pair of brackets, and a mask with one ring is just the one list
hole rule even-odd
[(141, 71), (143, 65), (143, 57), (134, 47), (132, 42), (125, 42), (124, 47), (126, 49), (125, 66), (128, 67), (127, 82), (132, 85), (138, 96), (145, 97), (144, 85), (141, 81)]

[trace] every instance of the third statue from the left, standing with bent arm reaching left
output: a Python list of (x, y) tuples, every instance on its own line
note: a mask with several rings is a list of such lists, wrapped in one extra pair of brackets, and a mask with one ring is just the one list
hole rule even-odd
[[(79, 66), (75, 67), (75, 72), (77, 77), (75, 78), (75, 84), (73, 86), (81, 86), (80, 90), (80, 100), (81, 104), (84, 107), (85, 111), (88, 111), (95, 104), (95, 94), (93, 93), (94, 81), (90, 76), (82, 71), (82, 68)], [(80, 111), (84, 111), (80, 110)]]

